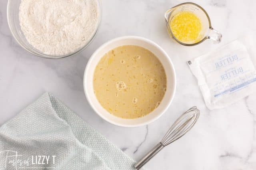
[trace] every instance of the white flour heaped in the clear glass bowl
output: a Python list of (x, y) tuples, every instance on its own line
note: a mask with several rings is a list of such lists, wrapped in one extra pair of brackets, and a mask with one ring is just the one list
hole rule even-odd
[(98, 23), (96, 0), (21, 0), (20, 27), (28, 43), (48, 55), (84, 46)]

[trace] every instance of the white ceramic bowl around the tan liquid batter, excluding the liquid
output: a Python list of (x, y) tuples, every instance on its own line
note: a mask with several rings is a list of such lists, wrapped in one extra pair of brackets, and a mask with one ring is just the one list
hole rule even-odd
[[(141, 118), (122, 119), (111, 115), (100, 105), (94, 94), (93, 74), (96, 65), (105, 53), (120, 45), (138, 45), (150, 50), (161, 61), (166, 72), (167, 88), (164, 98), (162, 99), (160, 105), (156, 109), (154, 109), (154, 111)], [(109, 42), (104, 43), (92, 54), (84, 71), (84, 92), (91, 107), (100, 117), (102, 117), (102, 119), (108, 121), (109, 123), (112, 123), (113, 125), (118, 125), (121, 127), (138, 127), (142, 125), (147, 125), (158, 119), (170, 106), (170, 103), (172, 102), (172, 99), (174, 97), (175, 89), (176, 75), (170, 57), (159, 45), (142, 37), (125, 36), (115, 38), (114, 40), (110, 40)]]

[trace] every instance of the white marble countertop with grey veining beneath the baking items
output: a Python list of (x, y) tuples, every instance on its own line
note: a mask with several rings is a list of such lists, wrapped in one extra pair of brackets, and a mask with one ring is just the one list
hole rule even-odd
[[(184, 137), (164, 148), (146, 168), (150, 170), (255, 170), (256, 94), (226, 107), (206, 108), (186, 61), (234, 40), (256, 28), (254, 0), (196, 0), (208, 12), (212, 26), (223, 35), (185, 47), (172, 42), (164, 12), (184, 0), (102, 0), (98, 35), (82, 53), (65, 59), (35, 57), (12, 37), (6, 19), (7, 0), (0, 1), (0, 125), (48, 91), (75, 111), (130, 157), (138, 160), (165, 134), (178, 116), (191, 106), (201, 111), (198, 123)], [(154, 123), (122, 128), (101, 119), (86, 101), (84, 68), (90, 55), (104, 42), (119, 36), (142, 36), (158, 43), (170, 55), (177, 74), (177, 91), (168, 111)]]

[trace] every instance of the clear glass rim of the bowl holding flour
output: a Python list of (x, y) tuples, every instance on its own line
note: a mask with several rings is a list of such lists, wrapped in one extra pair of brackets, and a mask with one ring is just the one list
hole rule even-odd
[[(16, 36), (14, 35), (13, 31), (12, 31), (12, 27), (10, 25), (10, 16), (9, 16), (9, 13), (10, 13), (10, 1), (11, 0), (8, 0), (8, 3), (7, 3), (7, 22), (8, 22), (8, 26), (9, 26), (9, 29), (10, 29), (10, 32), (12, 34), (12, 36), (14, 37), (14, 39), (16, 40), (16, 42), (23, 48), (25, 49), (26, 51), (28, 51), (29, 53), (32, 53), (38, 57), (42, 57), (42, 58), (47, 58), (47, 59), (60, 59), (60, 58), (65, 58), (65, 57), (70, 57), (72, 55), (75, 55), (81, 51), (83, 51), (91, 42), (92, 40), (94, 40), (94, 38), (96, 37), (96, 34), (98, 33), (98, 30), (100, 28), (100, 23), (101, 23), (101, 19), (102, 19), (102, 2), (101, 0), (97, 0), (98, 1), (98, 8), (99, 8), (99, 15), (98, 15), (98, 23), (97, 23), (97, 26), (96, 26), (96, 29), (94, 31), (94, 34), (92, 35), (92, 37), (90, 38), (90, 40), (83, 46), (83, 47), (80, 47), (79, 49), (77, 49), (76, 51), (73, 51), (71, 53), (68, 53), (68, 54), (64, 54), (64, 55), (48, 55), (48, 54), (44, 54), (40, 51), (38, 51), (37, 49), (34, 49), (37, 51), (37, 53), (33, 52), (33, 51), (30, 51), (30, 49), (28, 49), (27, 47), (25, 47), (22, 43), (19, 42), (19, 40), (16, 38)], [(23, 33), (22, 33), (23, 34)]]

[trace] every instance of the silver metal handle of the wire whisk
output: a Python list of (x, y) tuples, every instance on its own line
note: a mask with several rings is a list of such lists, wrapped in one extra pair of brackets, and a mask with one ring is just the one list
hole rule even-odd
[(154, 148), (152, 148), (143, 158), (141, 158), (134, 167), (139, 170), (144, 164), (146, 164), (153, 156), (155, 156), (160, 150), (164, 148), (164, 145), (160, 142)]

